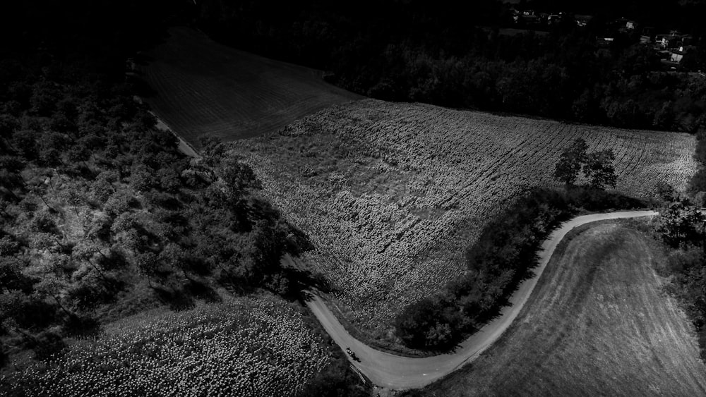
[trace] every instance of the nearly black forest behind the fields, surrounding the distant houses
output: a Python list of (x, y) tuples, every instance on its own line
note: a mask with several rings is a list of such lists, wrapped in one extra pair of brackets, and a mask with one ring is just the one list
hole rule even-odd
[[(641, 30), (618, 31), (632, 15), (650, 35), (682, 30), (695, 37), (680, 68), (706, 70), (698, 16), (703, 1), (552, 1), (520, 7), (594, 16), (505, 34), (510, 6), (477, 1), (460, 12), (449, 1), (205, 0), (193, 10), (212, 37), (275, 59), (320, 68), (325, 78), (378, 99), (507, 111), (582, 123), (695, 132), (705, 122), (706, 79), (664, 72)], [(565, 3), (565, 2), (562, 2)], [(555, 8), (556, 7), (556, 8)], [(652, 32), (654, 30), (654, 32)], [(597, 37), (611, 35), (611, 42)]]

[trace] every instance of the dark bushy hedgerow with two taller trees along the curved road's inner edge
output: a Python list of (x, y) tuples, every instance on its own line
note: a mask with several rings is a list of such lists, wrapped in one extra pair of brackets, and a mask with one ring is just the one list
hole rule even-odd
[[(395, 319), (397, 336), (411, 348), (448, 350), (500, 313), (517, 286), (531, 276), (549, 233), (580, 211), (629, 209), (644, 203), (614, 188), (611, 151), (587, 152), (577, 139), (563, 150), (555, 178), (563, 189), (536, 188), (487, 224), (466, 249), (466, 271), (429, 298), (405, 307)], [(587, 183), (577, 185), (580, 171)]]

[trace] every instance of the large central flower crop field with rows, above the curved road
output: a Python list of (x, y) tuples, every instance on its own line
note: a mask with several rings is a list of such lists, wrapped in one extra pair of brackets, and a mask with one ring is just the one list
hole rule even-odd
[(563, 147), (616, 152), (618, 189), (684, 188), (693, 136), (568, 125), (366, 99), (232, 144), (264, 192), (309, 234), (306, 262), (337, 287), (339, 309), (385, 341), (403, 305), (463, 271), (463, 250), (533, 186), (553, 185)]

